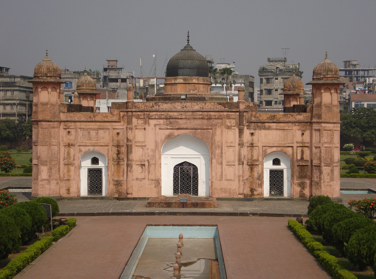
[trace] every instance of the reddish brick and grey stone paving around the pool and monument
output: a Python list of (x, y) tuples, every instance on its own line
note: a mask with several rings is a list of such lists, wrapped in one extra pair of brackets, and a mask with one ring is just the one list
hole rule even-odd
[[(28, 183), (31, 178), (0, 178), (0, 188)], [(341, 188), (376, 189), (375, 183), (376, 179), (341, 179)], [(16, 195), (24, 201), (30, 192)], [(364, 198), (364, 194), (341, 194), (341, 198), (347, 204), (349, 198)], [(218, 225), (228, 279), (331, 278), (287, 227), (289, 218), (306, 215), (305, 200), (223, 200), (216, 209), (190, 211), (148, 209), (146, 200), (75, 199), (58, 203), (61, 215), (76, 215), (77, 226), (15, 278), (117, 279), (147, 224)], [(235, 216), (250, 212), (258, 216)], [(129, 216), (116, 216), (124, 214)]]

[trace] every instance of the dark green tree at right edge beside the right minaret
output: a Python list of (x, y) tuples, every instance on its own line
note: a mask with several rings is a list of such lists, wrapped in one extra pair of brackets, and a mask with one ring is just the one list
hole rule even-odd
[(363, 146), (366, 141), (374, 143), (376, 139), (376, 109), (359, 107), (353, 109), (352, 113), (342, 113), (341, 136), (361, 140)]

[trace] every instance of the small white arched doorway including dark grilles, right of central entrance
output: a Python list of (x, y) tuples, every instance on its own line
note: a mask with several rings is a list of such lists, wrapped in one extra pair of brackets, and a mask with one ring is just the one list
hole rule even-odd
[(264, 158), (264, 197), (291, 197), (291, 160), (283, 152)]

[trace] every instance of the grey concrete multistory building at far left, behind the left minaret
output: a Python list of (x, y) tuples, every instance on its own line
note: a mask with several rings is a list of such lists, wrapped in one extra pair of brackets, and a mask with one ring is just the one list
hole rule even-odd
[(0, 67), (0, 119), (27, 120), (32, 114), (33, 87), (31, 76), (11, 75)]

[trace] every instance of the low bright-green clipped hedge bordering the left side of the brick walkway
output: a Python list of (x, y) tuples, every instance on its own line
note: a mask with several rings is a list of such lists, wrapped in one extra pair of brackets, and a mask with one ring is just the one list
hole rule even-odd
[[(2, 279), (11, 279), (17, 275), (18, 272), (27, 267), (33, 260), (38, 258), (44, 251), (46, 251), (52, 245), (53, 241), (59, 240), (61, 237), (64, 237), (75, 225), (76, 218), (70, 218), (67, 220), (67, 223), (70, 225), (64, 225), (56, 228), (52, 231), (52, 234), (55, 233), (55, 236), (43, 237), (41, 240), (33, 243), (29, 246), (22, 254), (15, 257), (13, 260), (4, 267), (3, 270), (0, 270), (0, 278)], [(61, 228), (64, 227), (64, 228)], [(59, 230), (59, 228), (61, 228)], [(65, 232), (65, 234), (64, 234)], [(56, 240), (55, 240), (56, 239)]]

